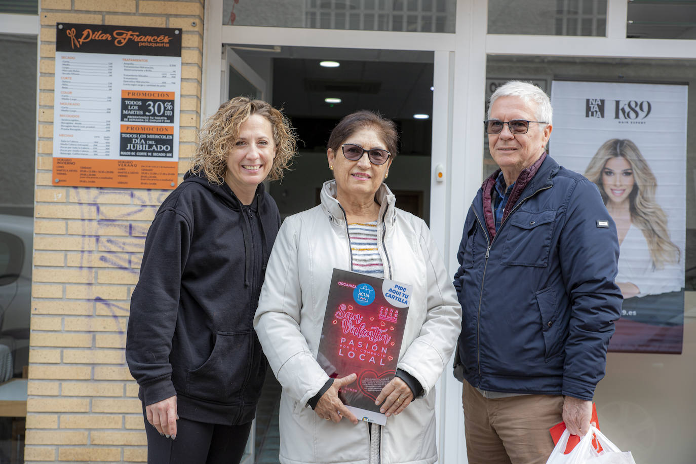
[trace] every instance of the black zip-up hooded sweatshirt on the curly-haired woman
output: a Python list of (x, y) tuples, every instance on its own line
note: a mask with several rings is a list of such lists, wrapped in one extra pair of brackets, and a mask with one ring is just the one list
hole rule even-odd
[(253, 316), (280, 227), (260, 184), (244, 206), (187, 173), (157, 211), (130, 306), (126, 360), (145, 406), (177, 395), (180, 417), (246, 424), (266, 359)]

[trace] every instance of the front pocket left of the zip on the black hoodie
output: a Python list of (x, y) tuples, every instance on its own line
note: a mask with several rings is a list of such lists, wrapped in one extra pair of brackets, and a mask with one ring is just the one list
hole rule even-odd
[(236, 402), (233, 399), (251, 371), (252, 342), (251, 331), (216, 333), (209, 358), (187, 374), (187, 396), (216, 403)]

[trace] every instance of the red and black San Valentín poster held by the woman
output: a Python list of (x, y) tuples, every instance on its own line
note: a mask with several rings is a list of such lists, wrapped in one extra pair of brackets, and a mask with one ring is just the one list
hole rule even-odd
[(339, 395), (358, 419), (386, 424), (374, 401), (394, 378), (413, 287), (333, 269), (317, 362), (330, 377), (357, 374)]

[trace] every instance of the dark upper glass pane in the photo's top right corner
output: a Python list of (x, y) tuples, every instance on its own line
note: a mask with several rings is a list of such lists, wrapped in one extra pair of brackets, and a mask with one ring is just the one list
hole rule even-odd
[(629, 1), (626, 37), (696, 39), (696, 2)]

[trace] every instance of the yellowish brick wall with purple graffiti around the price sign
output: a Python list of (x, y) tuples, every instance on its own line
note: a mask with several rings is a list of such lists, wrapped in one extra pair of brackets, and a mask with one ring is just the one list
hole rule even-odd
[(203, 0), (42, 0), (27, 462), (145, 462), (125, 364), (145, 234), (169, 191), (52, 186), (56, 22), (182, 28), (179, 172), (200, 118)]

